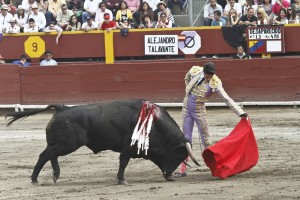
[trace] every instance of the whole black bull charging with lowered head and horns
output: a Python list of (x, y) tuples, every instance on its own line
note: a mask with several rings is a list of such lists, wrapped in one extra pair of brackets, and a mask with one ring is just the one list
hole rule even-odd
[(7, 126), (20, 118), (53, 108), (56, 111), (46, 128), (47, 147), (34, 167), (32, 183), (37, 183), (40, 171), (49, 160), (53, 168), (53, 180), (56, 182), (60, 174), (58, 156), (70, 154), (84, 145), (94, 153), (104, 150), (120, 153), (117, 174), (120, 184), (127, 183), (124, 172), (130, 158), (149, 159), (161, 169), (165, 179), (174, 180), (172, 173), (188, 155), (198, 163), (182, 131), (164, 109), (155, 106), (158, 112), (149, 135), (147, 155), (143, 151), (137, 154), (136, 144), (130, 146), (144, 103), (142, 100), (131, 100), (74, 107), (49, 105), (44, 109), (10, 113), (6, 116), (10, 117)]

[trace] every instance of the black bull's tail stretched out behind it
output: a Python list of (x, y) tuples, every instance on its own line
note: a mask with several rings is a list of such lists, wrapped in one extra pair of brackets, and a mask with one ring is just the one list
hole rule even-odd
[(14, 121), (17, 121), (18, 119), (27, 118), (31, 115), (35, 115), (41, 112), (45, 112), (47, 110), (51, 110), (52, 108), (54, 108), (56, 111), (62, 111), (68, 109), (69, 107), (64, 105), (49, 105), (43, 109), (27, 110), (22, 112), (12, 112), (5, 116), (5, 119), (8, 118), (6, 126), (10, 126)]

